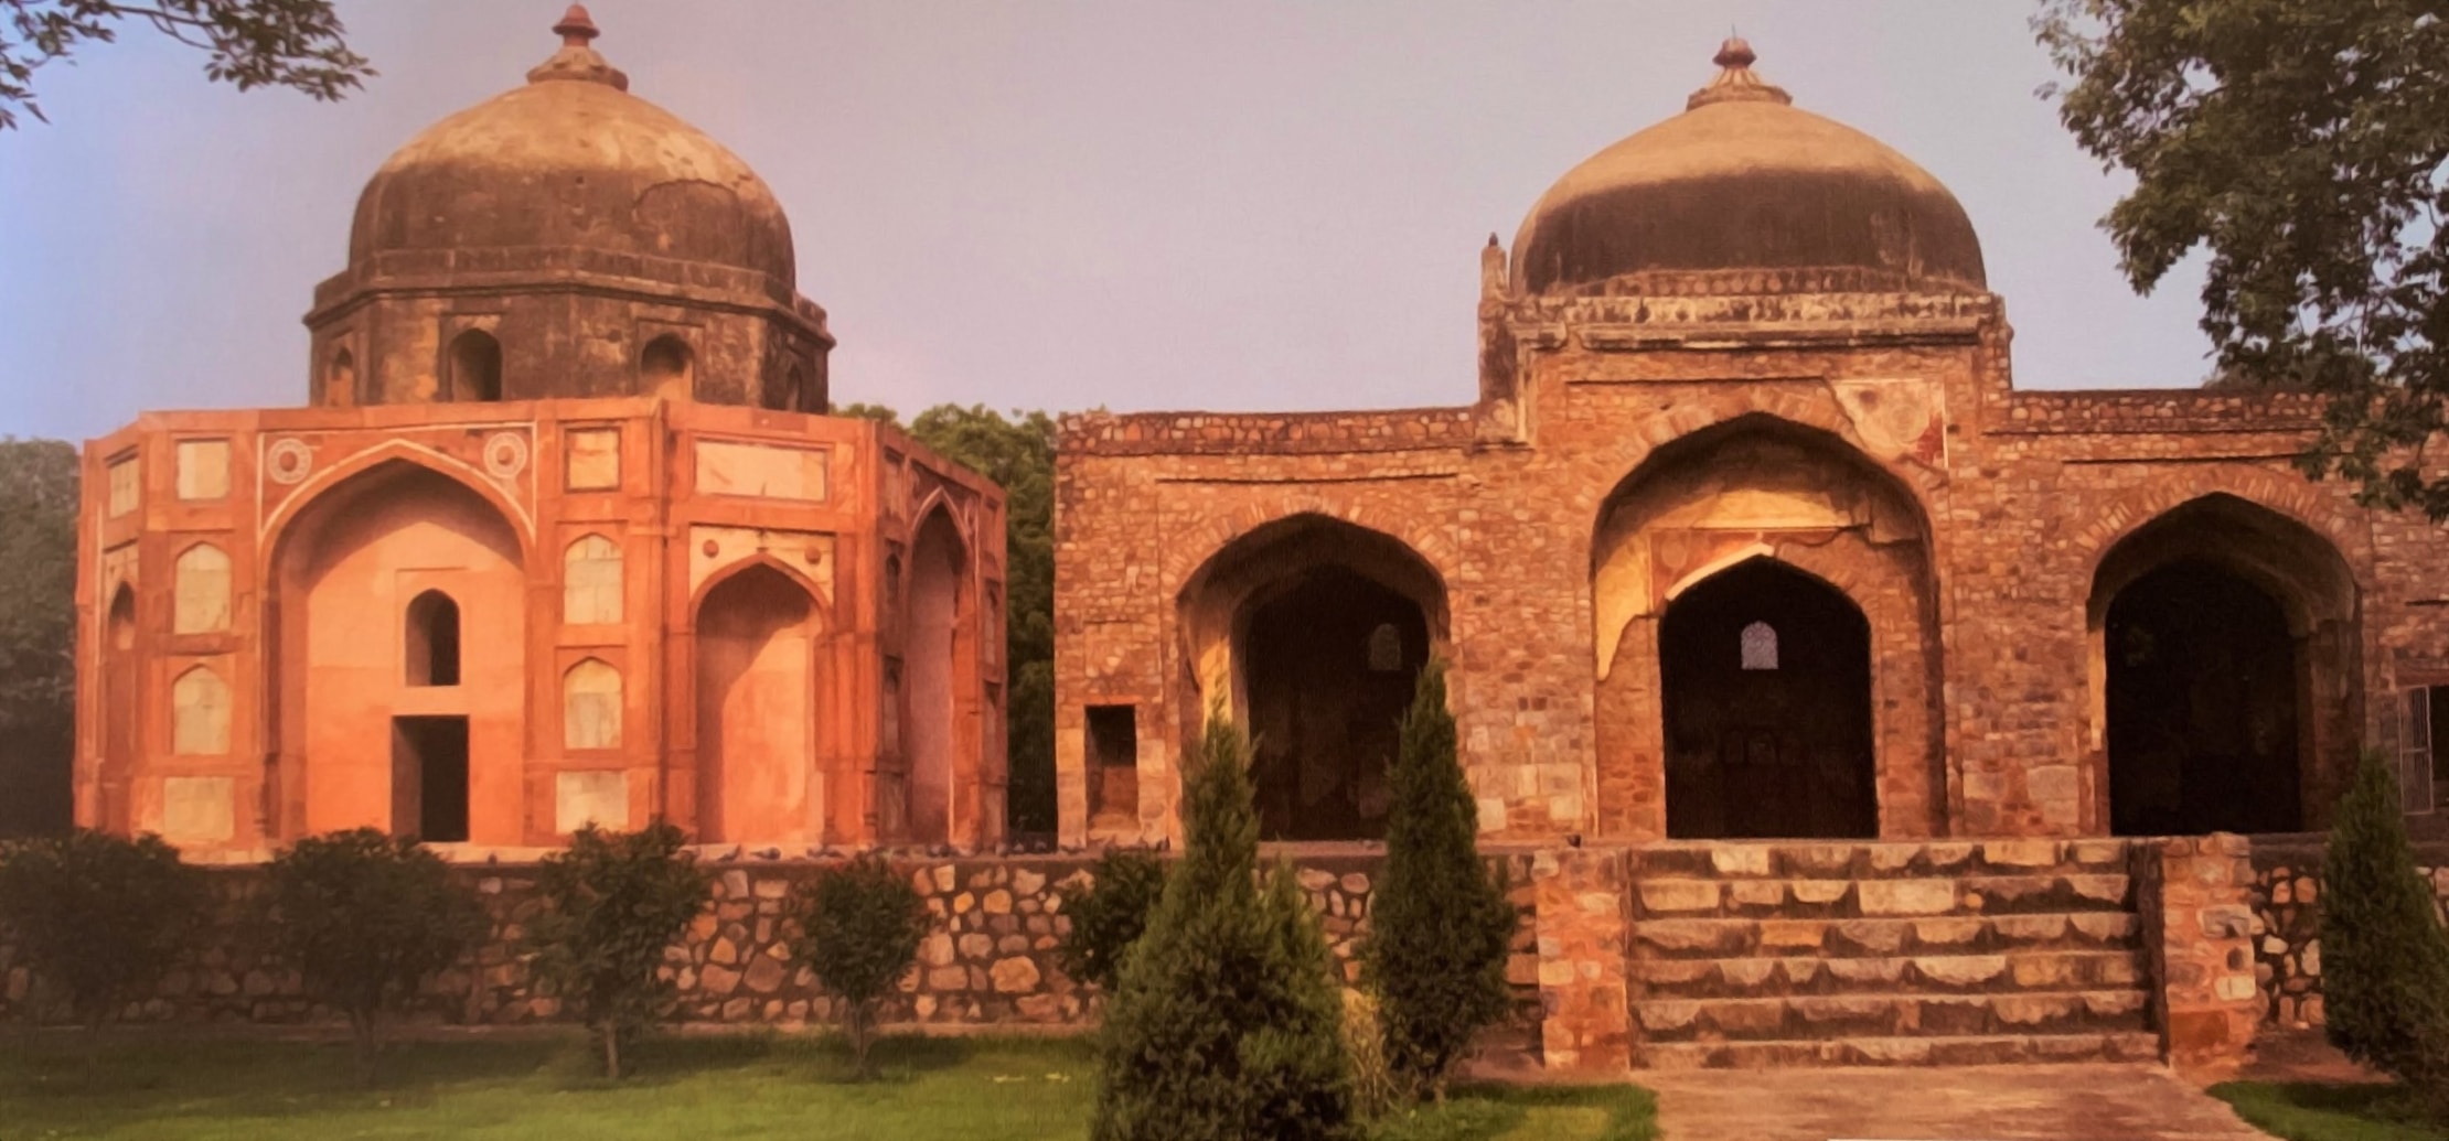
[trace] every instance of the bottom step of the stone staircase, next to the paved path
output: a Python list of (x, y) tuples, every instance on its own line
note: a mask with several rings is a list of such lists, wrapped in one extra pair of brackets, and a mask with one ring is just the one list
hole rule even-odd
[(1989, 1033), (1918, 1038), (1643, 1043), (1636, 1065), (1653, 1070), (1768, 1070), (1795, 1065), (2001, 1065), (2001, 1063), (2155, 1063), (2160, 1036)]

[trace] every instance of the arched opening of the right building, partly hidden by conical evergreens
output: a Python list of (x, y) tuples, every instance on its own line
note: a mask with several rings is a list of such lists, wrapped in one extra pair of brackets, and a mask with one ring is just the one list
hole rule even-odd
[(1300, 514), (1210, 558), (1180, 607), (1185, 749), (1224, 695), (1251, 735), (1259, 837), (1386, 835), (1386, 766), (1445, 624), (1438, 573), (1391, 536)]

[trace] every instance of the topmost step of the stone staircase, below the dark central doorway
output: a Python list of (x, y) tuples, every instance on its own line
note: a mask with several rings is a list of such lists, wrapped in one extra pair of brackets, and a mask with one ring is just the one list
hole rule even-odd
[(2126, 840), (1687, 840), (1633, 852), (1633, 881), (1700, 879), (1957, 879), (2126, 874)]

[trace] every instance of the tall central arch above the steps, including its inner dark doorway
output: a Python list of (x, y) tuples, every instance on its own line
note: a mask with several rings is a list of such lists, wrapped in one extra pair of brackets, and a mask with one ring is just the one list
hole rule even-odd
[(1820, 428), (1653, 451), (1592, 536), (1597, 830), (1945, 835), (1927, 536), (1913, 487)]

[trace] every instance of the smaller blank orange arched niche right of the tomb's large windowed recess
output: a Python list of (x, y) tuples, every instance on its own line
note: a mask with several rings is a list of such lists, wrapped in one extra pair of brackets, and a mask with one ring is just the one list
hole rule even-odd
[(698, 602), (698, 837), (811, 840), (816, 607), (771, 566)]

